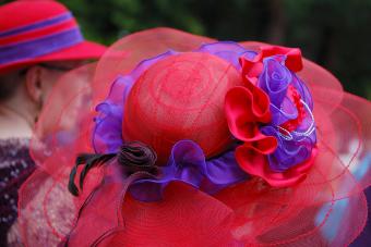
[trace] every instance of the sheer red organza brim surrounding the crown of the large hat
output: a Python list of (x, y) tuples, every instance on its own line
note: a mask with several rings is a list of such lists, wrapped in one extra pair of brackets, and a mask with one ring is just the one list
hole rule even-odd
[[(371, 176), (367, 169), (362, 176), (356, 171), (370, 152), (371, 106), (344, 92), (332, 74), (308, 60), (299, 75), (313, 95), (318, 156), (302, 183), (273, 188), (253, 177), (215, 196), (173, 183), (163, 200), (141, 202), (124, 194), (129, 181), (109, 183), (115, 173), (94, 169), (83, 195), (69, 194), (76, 155), (93, 152), (94, 106), (117, 74), (168, 49), (190, 51), (210, 41), (168, 28), (141, 32), (115, 44), (96, 67), (61, 79), (32, 143), (39, 168), (20, 190), (19, 221), (26, 246), (56, 246), (67, 239), (70, 246), (344, 246), (359, 235), (367, 220), (362, 190)], [(256, 50), (260, 44), (241, 45)], [(93, 84), (86, 75), (94, 76)], [(106, 196), (89, 200), (103, 185)], [(110, 210), (116, 210), (115, 219)]]

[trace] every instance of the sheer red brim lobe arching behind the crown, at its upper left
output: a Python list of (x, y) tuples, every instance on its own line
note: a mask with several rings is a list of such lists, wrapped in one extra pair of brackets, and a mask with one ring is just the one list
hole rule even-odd
[(93, 84), (94, 103), (107, 97), (118, 74), (131, 72), (141, 61), (168, 50), (191, 51), (213, 41), (216, 40), (169, 28), (154, 28), (127, 36), (113, 44), (99, 60)]

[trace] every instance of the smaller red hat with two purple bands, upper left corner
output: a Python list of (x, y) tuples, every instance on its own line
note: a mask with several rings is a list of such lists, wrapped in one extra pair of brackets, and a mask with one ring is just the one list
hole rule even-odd
[(40, 62), (97, 59), (105, 49), (85, 41), (72, 13), (57, 1), (0, 7), (0, 73)]

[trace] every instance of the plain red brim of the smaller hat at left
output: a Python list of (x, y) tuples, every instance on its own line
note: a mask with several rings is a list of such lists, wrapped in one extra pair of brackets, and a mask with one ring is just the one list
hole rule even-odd
[(33, 59), (22, 60), (10, 64), (0, 65), (0, 74), (22, 69), (28, 65), (41, 62), (56, 62), (56, 61), (76, 61), (76, 60), (91, 60), (99, 59), (106, 51), (106, 47), (92, 41), (83, 41), (75, 46), (40, 55)]

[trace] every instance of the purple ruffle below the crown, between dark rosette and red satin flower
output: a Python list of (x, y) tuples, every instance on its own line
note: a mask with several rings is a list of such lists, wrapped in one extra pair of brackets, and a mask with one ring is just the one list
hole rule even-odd
[(235, 150), (206, 160), (201, 147), (192, 140), (180, 140), (172, 147), (168, 163), (157, 176), (132, 184), (130, 192), (135, 199), (153, 201), (161, 198), (163, 190), (171, 182), (183, 182), (207, 194), (215, 194), (232, 184), (246, 181), (235, 159)]

